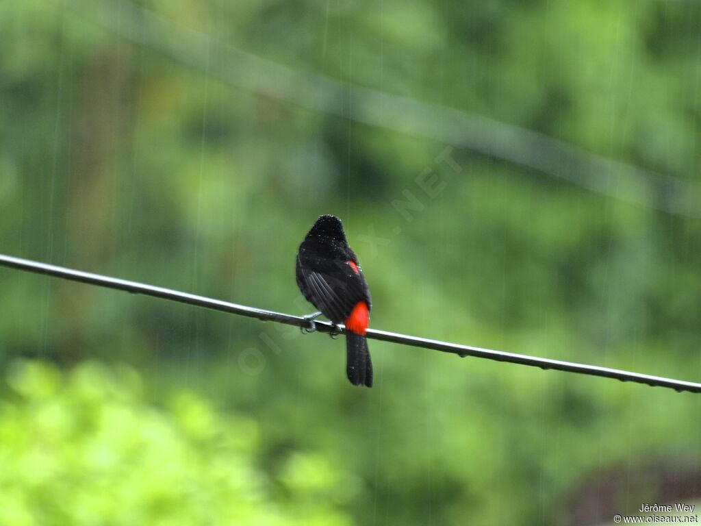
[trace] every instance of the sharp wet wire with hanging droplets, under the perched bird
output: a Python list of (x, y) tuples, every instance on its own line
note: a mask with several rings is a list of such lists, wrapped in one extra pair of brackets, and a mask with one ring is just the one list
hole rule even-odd
[[(238, 316), (247, 316), (248, 318), (257, 318), (261, 321), (274, 321), (278, 323), (285, 323), (286, 325), (296, 325), (297, 327), (308, 326), (308, 321), (301, 316), (292, 316), (292, 314), (256, 309), (255, 307), (251, 306), (224, 302), (221, 299), (198, 296), (187, 292), (180, 292), (179, 290), (156, 287), (154, 285), (137, 283), (135, 281), (128, 281), (120, 278), (101, 276), (100, 274), (92, 274), (90, 272), (68, 269), (66, 267), (57, 267), (56, 265), (36, 262), (30, 259), (22, 259), (20, 257), (0, 255), (0, 265), (4, 267), (11, 267), (13, 269), (34, 272), (36, 274), (46, 274), (48, 276), (55, 276), (57, 278), (71, 281), (88, 283), (89, 285), (123, 290), (132, 294), (143, 294), (161, 299), (169, 299), (173, 302), (201, 306), (215, 311), (238, 314)], [(316, 329), (320, 332), (332, 332), (332, 330), (334, 330), (333, 325), (329, 322), (317, 321), (315, 325)], [(344, 330), (343, 325), (341, 325), (341, 332)], [(667, 387), (679, 392), (688, 391), (690, 393), (701, 393), (701, 384), (697, 384), (695, 382), (685, 382), (683, 380), (676, 380), (672, 378), (642, 375), (638, 372), (611, 369), (609, 367), (599, 367), (598, 365), (586, 365), (562, 360), (538, 358), (535, 356), (527, 356), (525, 354), (507, 353), (504, 351), (495, 351), (493, 349), (484, 349), (483, 347), (453, 344), (449, 342), (441, 342), (440, 340), (435, 339), (402, 335), (385, 330), (368, 329), (366, 336), (382, 342), (392, 342), (395, 344), (442, 351), (444, 353), (453, 353), (463, 358), (465, 356), (474, 356), (475, 358), (487, 358), (489, 360), (496, 360), (499, 362), (509, 362), (520, 365), (529, 365), (531, 367), (540, 367), (541, 369), (554, 369), (559, 371), (574, 372), (579, 375), (613, 378), (622, 382), (634, 382), (649, 386)]]

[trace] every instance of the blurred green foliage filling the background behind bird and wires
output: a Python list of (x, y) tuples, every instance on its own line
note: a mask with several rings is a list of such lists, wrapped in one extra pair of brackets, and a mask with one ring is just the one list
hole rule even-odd
[[(376, 328), (698, 380), (700, 34), (699, 4), (655, 0), (6, 2), (1, 252), (306, 313), (294, 253), (335, 213)], [(256, 93), (237, 50), (348, 98)], [(467, 148), (456, 173), (440, 140), (344, 119), (364, 87), (676, 177), (690, 205)], [(353, 389), (341, 340), (0, 283), (0, 524), (559, 524), (597, 474), (701, 461), (698, 396), (381, 342)]]

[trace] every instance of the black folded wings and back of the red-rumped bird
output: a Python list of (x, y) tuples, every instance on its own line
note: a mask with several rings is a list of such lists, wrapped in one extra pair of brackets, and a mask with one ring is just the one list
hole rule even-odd
[(370, 292), (359, 267), (336, 259), (316, 259), (313, 265), (300, 264), (311, 302), (336, 323), (346, 321), (358, 302), (367, 302)]

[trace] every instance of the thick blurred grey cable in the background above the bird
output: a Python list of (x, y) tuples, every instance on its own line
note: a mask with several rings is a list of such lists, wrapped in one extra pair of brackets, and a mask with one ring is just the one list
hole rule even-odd
[(132, 42), (236, 88), (315, 112), (426, 137), (501, 159), (620, 201), (701, 218), (701, 184), (606, 159), (533, 130), (363, 86), (341, 83), (214, 41), (128, 1), (55, 0)]

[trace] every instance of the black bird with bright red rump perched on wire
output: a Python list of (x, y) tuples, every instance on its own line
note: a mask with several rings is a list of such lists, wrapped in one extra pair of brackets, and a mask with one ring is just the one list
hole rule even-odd
[[(358, 257), (348, 245), (341, 220), (321, 215), (304, 237), (295, 264), (297, 285), (317, 312), (304, 316), (308, 331), (323, 314), (346, 326), (346, 376), (355, 386), (372, 387), (372, 361), (365, 332), (372, 308), (370, 290)], [(340, 332), (336, 329), (335, 334)]]

